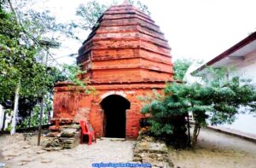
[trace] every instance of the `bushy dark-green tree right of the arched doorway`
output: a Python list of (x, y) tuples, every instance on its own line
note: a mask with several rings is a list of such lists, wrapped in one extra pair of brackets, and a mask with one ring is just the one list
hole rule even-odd
[[(226, 78), (225, 69), (211, 70), (212, 79), (206, 84), (167, 84), (164, 96), (149, 101), (143, 113), (151, 113), (151, 129), (157, 136), (173, 136), (184, 125), (175, 125), (173, 119), (193, 113), (195, 128), (192, 148), (195, 147), (200, 129), (207, 125), (232, 123), (240, 107), (247, 107), (252, 113), (256, 110), (256, 90), (248, 79), (239, 76)], [(175, 135), (174, 135), (175, 136)]]

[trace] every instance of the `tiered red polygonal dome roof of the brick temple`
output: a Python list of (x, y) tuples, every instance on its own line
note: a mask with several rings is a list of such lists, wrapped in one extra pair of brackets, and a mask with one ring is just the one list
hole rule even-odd
[(171, 48), (160, 27), (129, 3), (109, 8), (79, 49), (91, 84), (172, 81)]

